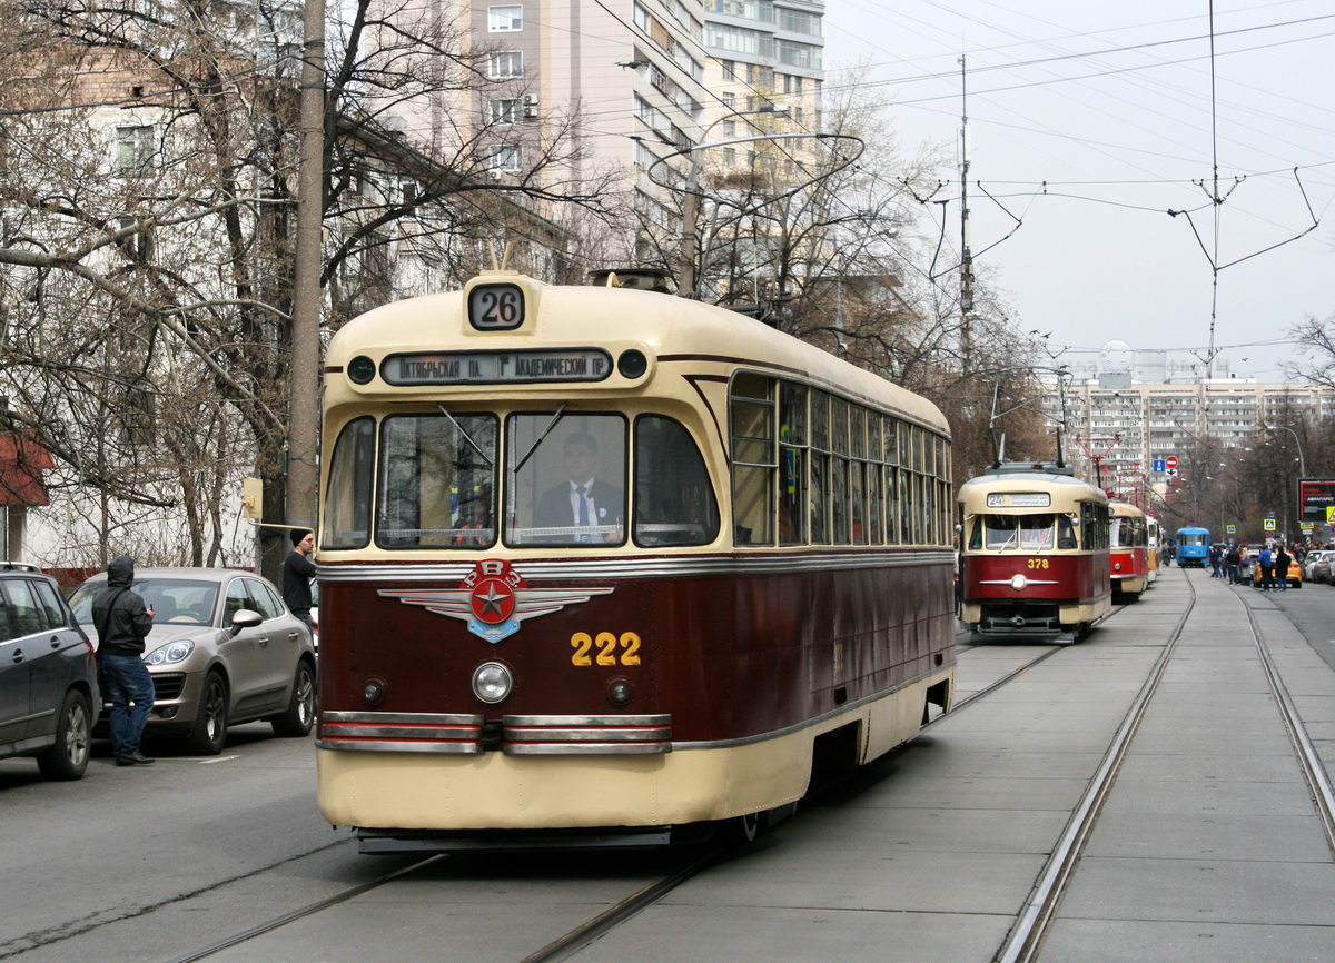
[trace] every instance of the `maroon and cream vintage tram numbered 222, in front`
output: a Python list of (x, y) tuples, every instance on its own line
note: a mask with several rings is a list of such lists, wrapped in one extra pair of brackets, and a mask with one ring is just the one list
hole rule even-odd
[(749, 838), (955, 688), (940, 411), (738, 313), (483, 272), (326, 356), (319, 806), (362, 852)]

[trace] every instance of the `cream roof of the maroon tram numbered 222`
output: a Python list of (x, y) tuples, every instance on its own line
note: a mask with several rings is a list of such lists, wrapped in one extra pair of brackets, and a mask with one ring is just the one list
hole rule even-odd
[[(645, 349), (651, 360), (697, 360), (754, 365), (776, 376), (806, 375), (817, 387), (876, 408), (893, 411), (949, 435), (941, 411), (928, 399), (873, 375), (792, 335), (776, 331), (745, 315), (712, 304), (655, 291), (619, 287), (549, 285), (513, 271), (479, 275), (487, 283), (521, 283), (535, 295), (537, 312), (515, 332), (478, 332), (467, 319), (467, 287), (392, 301), (354, 317), (330, 341), (326, 364), (339, 368), (355, 355), (376, 361), (395, 352), (506, 351), (570, 347)], [(474, 281), (470, 281), (473, 284)], [(441, 324), (433, 324), (441, 319)], [(603, 387), (633, 389), (635, 384), (613, 375)], [(559, 383), (555, 388), (589, 388), (587, 383)], [(515, 385), (471, 385), (513, 396)], [(439, 388), (433, 389), (439, 396)], [(406, 400), (413, 389), (356, 389), (367, 400)]]

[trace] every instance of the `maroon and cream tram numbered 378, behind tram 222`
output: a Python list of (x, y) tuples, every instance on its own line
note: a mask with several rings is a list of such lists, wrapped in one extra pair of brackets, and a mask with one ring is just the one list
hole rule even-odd
[(1108, 496), (1048, 463), (960, 488), (960, 619), (983, 635), (1088, 634), (1111, 606)]

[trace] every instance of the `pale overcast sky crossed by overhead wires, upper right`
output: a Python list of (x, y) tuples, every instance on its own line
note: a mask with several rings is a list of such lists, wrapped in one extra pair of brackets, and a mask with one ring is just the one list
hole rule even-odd
[(1210, 7), (828, 0), (825, 69), (873, 64), (901, 143), (952, 155), (967, 87), (975, 260), (1059, 363), (1203, 359), (1214, 315), (1234, 373), (1280, 380), (1276, 341), (1335, 316), (1335, 4), (1216, 0), (1214, 37)]

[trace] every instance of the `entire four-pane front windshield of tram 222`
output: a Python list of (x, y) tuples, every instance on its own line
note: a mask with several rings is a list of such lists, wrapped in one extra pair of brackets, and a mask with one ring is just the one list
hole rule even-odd
[(690, 432), (654, 415), (639, 416), (633, 431), (631, 451), (621, 413), (502, 417), (441, 407), (387, 415), (378, 425), (355, 419), (334, 447), (322, 548), (712, 543), (718, 503)]

